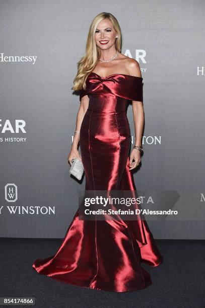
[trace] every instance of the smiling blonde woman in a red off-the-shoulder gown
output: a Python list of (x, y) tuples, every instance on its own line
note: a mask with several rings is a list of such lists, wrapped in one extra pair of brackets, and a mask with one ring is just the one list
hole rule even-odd
[[(86, 190), (135, 190), (130, 171), (141, 162), (143, 78), (139, 63), (121, 54), (120, 45), (116, 18), (110, 13), (96, 16), (74, 80), (81, 104), (68, 156), (71, 165), (74, 158), (82, 161)], [(129, 101), (135, 129), (130, 158)], [(66, 283), (125, 292), (152, 283), (141, 262), (158, 266), (162, 261), (145, 220), (80, 220), (78, 210), (56, 254), (37, 259), (33, 268)]]

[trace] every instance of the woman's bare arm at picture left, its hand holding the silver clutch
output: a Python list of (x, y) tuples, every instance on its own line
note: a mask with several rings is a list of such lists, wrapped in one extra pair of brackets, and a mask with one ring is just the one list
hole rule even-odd
[[(77, 113), (77, 119), (76, 119), (76, 129), (75, 130), (78, 130), (80, 131), (81, 129), (81, 124), (83, 122), (83, 118), (85, 116), (85, 113), (88, 109), (88, 105), (89, 105), (89, 97), (88, 95), (84, 95), (81, 99), (81, 104), (80, 104), (80, 107), (79, 107), (79, 111)], [(67, 161), (68, 163), (70, 163), (72, 165), (72, 159), (74, 158), (77, 158), (79, 159), (80, 161), (81, 160), (81, 156), (79, 154), (79, 151), (78, 151), (78, 144), (79, 144), (79, 141), (80, 141), (80, 133), (79, 132), (75, 132), (74, 134), (74, 140), (73, 140), (73, 143), (72, 143), (72, 147), (71, 147), (71, 151), (69, 153), (69, 156), (67, 157)]]

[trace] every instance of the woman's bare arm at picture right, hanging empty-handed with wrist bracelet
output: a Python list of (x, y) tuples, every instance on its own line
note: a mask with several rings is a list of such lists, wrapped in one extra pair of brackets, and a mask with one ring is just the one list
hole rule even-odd
[[(141, 69), (138, 61), (131, 59), (129, 65), (130, 75), (142, 77)], [(132, 112), (133, 112), (133, 122), (134, 122), (134, 133), (135, 133), (135, 144), (142, 145), (142, 135), (145, 123), (145, 113), (143, 102), (132, 101)], [(129, 158), (129, 170), (136, 168), (141, 162), (141, 152), (138, 149), (133, 148), (130, 153)]]

